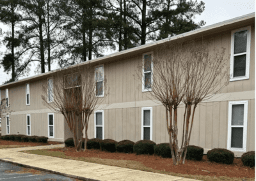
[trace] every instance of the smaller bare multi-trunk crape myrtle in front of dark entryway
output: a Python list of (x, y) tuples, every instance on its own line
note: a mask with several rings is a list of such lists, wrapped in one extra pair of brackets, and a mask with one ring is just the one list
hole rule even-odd
[[(91, 64), (69, 68), (56, 73), (42, 85), (42, 99), (52, 112), (61, 113), (73, 134), (77, 152), (81, 151), (83, 143), (83, 129), (85, 128), (84, 150), (88, 141), (88, 124), (90, 115), (104, 101), (106, 92), (106, 77), (101, 71), (96, 71)], [(101, 86), (97, 86), (95, 79), (102, 79)], [(99, 98), (103, 91), (104, 98)]]

